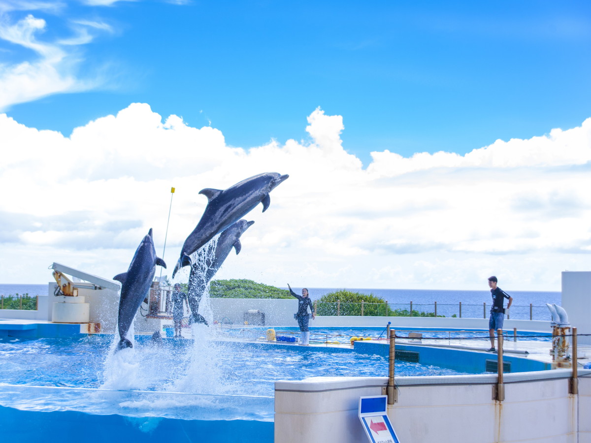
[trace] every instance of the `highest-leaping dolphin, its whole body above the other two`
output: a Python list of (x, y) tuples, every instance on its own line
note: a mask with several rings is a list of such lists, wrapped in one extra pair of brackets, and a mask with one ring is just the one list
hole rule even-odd
[(201, 220), (184, 242), (181, 256), (174, 266), (173, 278), (178, 269), (191, 266), (192, 253), (249, 213), (257, 204), (262, 203), (262, 211), (265, 212), (271, 204), (269, 193), (288, 177), (287, 174), (264, 172), (246, 178), (225, 190), (205, 188), (199, 191), (209, 202)]

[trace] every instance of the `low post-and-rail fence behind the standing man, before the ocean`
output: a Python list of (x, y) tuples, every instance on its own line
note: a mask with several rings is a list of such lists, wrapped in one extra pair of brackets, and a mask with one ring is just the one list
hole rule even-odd
[[(384, 317), (458, 317), (488, 318), (491, 304), (430, 304), (409, 303), (351, 303), (314, 302), (317, 315), (368, 315)], [(514, 320), (551, 320), (545, 306), (512, 305), (506, 310), (506, 318)]]

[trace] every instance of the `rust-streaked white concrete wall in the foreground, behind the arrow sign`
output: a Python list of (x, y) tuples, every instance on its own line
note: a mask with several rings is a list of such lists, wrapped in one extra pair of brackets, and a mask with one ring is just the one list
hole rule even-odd
[[(462, 376), (454, 377), (453, 385), (449, 377), (445, 385), (400, 377), (398, 402), (389, 406), (388, 416), (403, 443), (591, 443), (591, 371), (579, 380), (578, 396), (569, 394), (570, 370), (535, 374), (555, 378), (511, 383), (523, 374), (505, 374), (503, 402), (492, 399), (493, 385), (468, 384)], [(470, 377), (492, 383), (496, 376)], [(359, 397), (382, 395), (386, 384), (386, 377), (276, 382), (275, 443), (367, 441), (358, 418)]]

